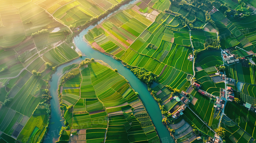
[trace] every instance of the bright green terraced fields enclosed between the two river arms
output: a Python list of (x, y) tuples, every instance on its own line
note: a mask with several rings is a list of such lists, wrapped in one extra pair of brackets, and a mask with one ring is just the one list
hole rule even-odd
[(61, 103), (73, 106), (64, 110), (71, 131), (86, 130), (70, 137), (86, 142), (160, 141), (138, 95), (123, 77), (100, 63), (71, 70), (77, 75), (62, 87)]

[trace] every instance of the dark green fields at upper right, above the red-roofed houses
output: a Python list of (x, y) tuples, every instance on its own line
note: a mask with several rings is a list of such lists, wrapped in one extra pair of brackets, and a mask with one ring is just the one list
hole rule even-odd
[(222, 49), (230, 48), (233, 54), (240, 57), (247, 56), (248, 53), (246, 51), (255, 51), (254, 15), (246, 17), (245, 20), (238, 21), (233, 17), (226, 18), (218, 11), (212, 14), (211, 17), (220, 31), (219, 36)]

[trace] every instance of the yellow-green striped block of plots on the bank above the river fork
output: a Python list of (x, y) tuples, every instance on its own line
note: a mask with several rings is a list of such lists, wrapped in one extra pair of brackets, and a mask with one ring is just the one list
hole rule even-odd
[(138, 12), (140, 13), (137, 9), (118, 12), (105, 20), (103, 24), (90, 30), (85, 38), (94, 48), (120, 58), (128, 46), (152, 24), (149, 19)]

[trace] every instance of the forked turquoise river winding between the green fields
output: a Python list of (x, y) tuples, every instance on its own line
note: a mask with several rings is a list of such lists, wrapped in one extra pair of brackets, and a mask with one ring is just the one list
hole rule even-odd
[[(119, 8), (121, 9), (127, 9), (131, 7), (133, 3), (135, 3), (136, 0), (131, 1), (130, 3), (123, 5)], [(107, 15), (104, 19), (109, 17), (112, 13)], [(101, 23), (104, 19), (99, 21), (98, 23)], [(166, 127), (162, 124), (162, 114), (159, 108), (158, 103), (155, 101), (155, 99), (150, 95), (149, 91), (147, 90), (146, 84), (144, 84), (142, 81), (140, 81), (131, 71), (130, 69), (123, 66), (123, 64), (120, 61), (117, 61), (113, 59), (110, 56), (107, 56), (99, 51), (94, 50), (90, 45), (88, 45), (84, 40), (83, 37), (85, 34), (87, 34), (89, 29), (92, 29), (94, 26), (91, 25), (88, 28), (84, 29), (78, 36), (74, 38), (74, 42), (77, 48), (81, 50), (83, 53), (83, 57), (76, 59), (70, 63), (66, 63), (64, 65), (61, 65), (57, 68), (57, 71), (53, 74), (53, 78), (50, 81), (50, 92), (52, 96), (51, 100), (51, 107), (52, 107), (52, 118), (50, 120), (50, 130), (48, 131), (48, 134), (46, 135), (44, 139), (44, 143), (52, 143), (58, 140), (59, 137), (59, 131), (61, 129), (61, 126), (64, 126), (63, 124), (63, 118), (61, 117), (60, 112), (60, 105), (57, 95), (57, 88), (58, 88), (58, 80), (60, 76), (62, 75), (62, 69), (68, 65), (71, 65), (73, 63), (80, 63), (85, 58), (94, 58), (95, 60), (102, 60), (105, 63), (109, 64), (113, 69), (117, 69), (118, 73), (125, 77), (131, 84), (132, 88), (139, 93), (139, 98), (142, 100), (146, 110), (149, 113), (149, 116), (151, 117), (153, 124), (156, 127), (156, 130), (158, 132), (158, 135), (160, 137), (160, 140), (165, 143), (174, 143), (173, 138), (170, 136), (169, 131), (166, 129)]]

